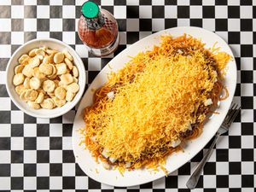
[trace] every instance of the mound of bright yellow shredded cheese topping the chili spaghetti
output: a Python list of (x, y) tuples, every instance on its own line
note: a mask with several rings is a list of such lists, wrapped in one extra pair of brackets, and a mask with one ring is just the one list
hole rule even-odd
[(111, 158), (124, 163), (160, 158), (162, 148), (172, 147), (190, 124), (206, 118), (195, 112), (208, 99), (218, 73), (202, 49), (189, 55), (174, 51), (138, 54), (104, 85), (121, 84), (114, 95), (84, 113), (88, 136)]

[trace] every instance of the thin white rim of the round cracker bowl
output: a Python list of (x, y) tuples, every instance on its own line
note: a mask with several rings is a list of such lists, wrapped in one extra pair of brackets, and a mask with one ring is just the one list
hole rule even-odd
[[(8, 92), (8, 95), (11, 99), (12, 102), (15, 103), (15, 106), (17, 108), (19, 108), (22, 112), (35, 117), (35, 118), (43, 118), (43, 119), (52, 119), (55, 117), (60, 117), (61, 115), (69, 112), (72, 108), (74, 108), (80, 101), (81, 97), (84, 95), (84, 89), (85, 89), (85, 84), (86, 84), (86, 73), (85, 73), (85, 67), (84, 67), (84, 62), (82, 61), (81, 57), (79, 56), (79, 54), (75, 51), (75, 49), (73, 49), (73, 56), (75, 56), (78, 60), (78, 62), (76, 62), (76, 66), (81, 64), (80, 67), (82, 67), (82, 72), (79, 71), (79, 75), (84, 76), (84, 80), (82, 82), (79, 82), (79, 92), (77, 93), (77, 101), (75, 102), (70, 102), (70, 105), (68, 106), (68, 108), (66, 110), (61, 110), (60, 113), (56, 113), (56, 114), (49, 114), (49, 113), (44, 113), (44, 114), (36, 114), (36, 113), (32, 113), (31, 110), (27, 110), (26, 108), (23, 108), (19, 102), (16, 101), (15, 97), (12, 95), (10, 89), (12, 89), (11, 87), (9, 87), (8, 82), (9, 82), (9, 76), (7, 75), (10, 67), (11, 67), (11, 63), (13, 61), (13, 58), (15, 55), (17, 55), (21, 49), (23, 49), (26, 45), (28, 44), (32, 44), (35, 42), (42, 42), (42, 41), (49, 41), (49, 42), (54, 42), (55, 44), (61, 44), (64, 45), (65, 47), (67, 47), (68, 49), (73, 49), (69, 44), (66, 44), (64, 42), (62, 42), (61, 40), (55, 39), (55, 38), (35, 38), (32, 39), (28, 42), (26, 42), (25, 44), (20, 45), (20, 47), (18, 49), (15, 50), (15, 52), (11, 55), (11, 57), (9, 58), (7, 67), (5, 69), (6, 72), (6, 78), (5, 78), (5, 86), (6, 86), (6, 90)], [(15, 87), (15, 86), (14, 86)], [(46, 109), (46, 110), (50, 110), (50, 109)]]

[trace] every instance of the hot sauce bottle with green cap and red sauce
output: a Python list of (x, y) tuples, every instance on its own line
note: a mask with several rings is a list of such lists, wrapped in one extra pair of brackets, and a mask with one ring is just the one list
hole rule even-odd
[(82, 5), (79, 19), (79, 38), (96, 56), (113, 53), (119, 45), (118, 23), (105, 9), (87, 1)]

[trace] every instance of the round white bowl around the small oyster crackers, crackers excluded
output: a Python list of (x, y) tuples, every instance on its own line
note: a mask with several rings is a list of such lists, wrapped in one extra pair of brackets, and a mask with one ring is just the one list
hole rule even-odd
[[(35, 110), (32, 108), (29, 108), (27, 103), (22, 101), (20, 99), (20, 96), (18, 96), (18, 94), (15, 92), (15, 85), (13, 84), (13, 78), (15, 75), (15, 66), (18, 65), (18, 59), (20, 58), (20, 55), (27, 54), (31, 49), (38, 48), (44, 45), (49, 47), (50, 49), (56, 49), (59, 51), (63, 49), (67, 49), (68, 52), (71, 55), (73, 55), (73, 63), (79, 69), (80, 89), (77, 95), (73, 98), (73, 101), (67, 102), (61, 108), (53, 108), (53, 109), (40, 108), (38, 110)], [(7, 73), (6, 88), (11, 100), (15, 103), (15, 105), (18, 108), (20, 108), (21, 111), (33, 117), (38, 117), (38, 118), (55, 118), (70, 111), (79, 102), (81, 96), (83, 96), (85, 83), (86, 83), (84, 63), (79, 57), (79, 55), (75, 52), (75, 50), (72, 47), (54, 38), (34, 39), (20, 46), (20, 48), (17, 49), (15, 53), (12, 55), (12, 57), (10, 58), (6, 68), (6, 73)]]

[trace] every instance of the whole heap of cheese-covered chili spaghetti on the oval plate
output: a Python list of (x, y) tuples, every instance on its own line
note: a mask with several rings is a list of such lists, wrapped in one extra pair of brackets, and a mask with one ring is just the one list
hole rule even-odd
[(160, 46), (111, 73), (84, 110), (84, 143), (93, 155), (119, 170), (165, 164), (191, 125), (202, 125), (201, 108), (221, 90), (217, 81), (230, 55), (203, 46), (186, 35), (164, 36)]

